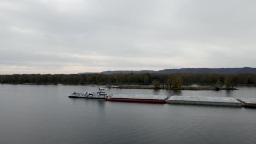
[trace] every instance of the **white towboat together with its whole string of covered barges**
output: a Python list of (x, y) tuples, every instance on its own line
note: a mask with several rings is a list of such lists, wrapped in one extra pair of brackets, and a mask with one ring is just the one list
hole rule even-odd
[(192, 105), (219, 105), (256, 108), (255, 99), (234, 99), (228, 97), (196, 97), (173, 95), (171, 97), (163, 95), (107, 95), (104, 88), (99, 88), (98, 92), (77, 93), (73, 92), (68, 98), (104, 99), (106, 101), (122, 101), (133, 103), (156, 103), (156, 104), (192, 104)]

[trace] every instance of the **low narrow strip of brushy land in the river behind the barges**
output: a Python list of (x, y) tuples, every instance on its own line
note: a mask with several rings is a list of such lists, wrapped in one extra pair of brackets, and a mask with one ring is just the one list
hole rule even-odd
[[(214, 87), (191, 87), (191, 86), (183, 86), (181, 88), (167, 88), (167, 87), (159, 87), (159, 88), (154, 88), (153, 86), (112, 86), (108, 88), (124, 88), (124, 89), (167, 89), (167, 90), (191, 90), (191, 91), (203, 91), (203, 90), (211, 90), (214, 91), (216, 88)], [(238, 90), (235, 87), (232, 88), (223, 88), (220, 87), (219, 90), (225, 90), (225, 91), (234, 91)]]

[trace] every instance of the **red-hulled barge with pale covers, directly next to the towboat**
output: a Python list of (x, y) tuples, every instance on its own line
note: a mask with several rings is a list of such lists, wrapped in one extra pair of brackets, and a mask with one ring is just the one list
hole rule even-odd
[(123, 102), (133, 102), (133, 103), (156, 103), (165, 104), (167, 96), (162, 95), (112, 95), (107, 97), (108, 101), (123, 101)]

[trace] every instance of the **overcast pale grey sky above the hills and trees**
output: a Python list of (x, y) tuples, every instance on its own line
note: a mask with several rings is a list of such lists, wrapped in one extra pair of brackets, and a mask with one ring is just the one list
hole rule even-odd
[(255, 5), (0, 0), (0, 74), (256, 67)]

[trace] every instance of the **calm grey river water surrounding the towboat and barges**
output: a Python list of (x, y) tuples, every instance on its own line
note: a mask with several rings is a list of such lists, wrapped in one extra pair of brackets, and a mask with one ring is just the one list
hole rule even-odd
[[(238, 91), (106, 89), (108, 94), (256, 98)], [(69, 99), (90, 86), (0, 85), (0, 143), (256, 143), (256, 109)]]

